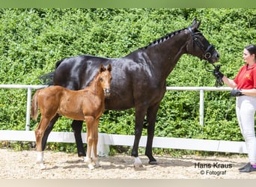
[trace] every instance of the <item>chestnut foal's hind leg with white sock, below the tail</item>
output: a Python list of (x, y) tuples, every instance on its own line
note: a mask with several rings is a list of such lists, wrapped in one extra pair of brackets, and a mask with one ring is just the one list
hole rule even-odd
[(37, 164), (40, 164), (40, 169), (45, 169), (46, 167), (43, 165), (43, 149), (42, 149), (42, 138), (43, 134), (46, 131), (46, 127), (49, 123), (49, 119), (41, 117), (40, 123), (35, 129), (35, 137), (37, 144)]

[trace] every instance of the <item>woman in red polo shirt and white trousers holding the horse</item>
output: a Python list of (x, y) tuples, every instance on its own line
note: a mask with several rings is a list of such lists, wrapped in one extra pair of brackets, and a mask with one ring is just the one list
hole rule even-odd
[(234, 80), (224, 76), (221, 72), (214, 72), (223, 82), (231, 88), (231, 96), (236, 98), (237, 120), (240, 125), (243, 138), (246, 141), (249, 163), (240, 172), (256, 171), (256, 138), (255, 138), (255, 111), (256, 111), (256, 46), (249, 45), (243, 49), (243, 61)]

